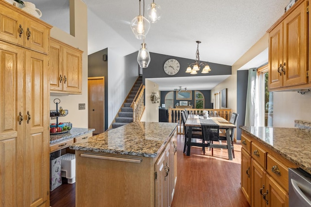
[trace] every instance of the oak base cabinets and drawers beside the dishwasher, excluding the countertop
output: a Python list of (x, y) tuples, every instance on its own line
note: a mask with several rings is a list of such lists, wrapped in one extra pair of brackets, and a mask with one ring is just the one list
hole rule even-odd
[(297, 166), (244, 131), (241, 138), (241, 188), (250, 206), (288, 207), (288, 168)]

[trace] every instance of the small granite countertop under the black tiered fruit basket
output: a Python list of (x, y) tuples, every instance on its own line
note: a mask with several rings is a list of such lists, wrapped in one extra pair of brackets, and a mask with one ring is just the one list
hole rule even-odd
[(50, 135), (50, 144), (61, 142), (67, 139), (73, 139), (75, 137), (87, 134), (94, 131), (94, 128), (71, 128), (69, 132)]

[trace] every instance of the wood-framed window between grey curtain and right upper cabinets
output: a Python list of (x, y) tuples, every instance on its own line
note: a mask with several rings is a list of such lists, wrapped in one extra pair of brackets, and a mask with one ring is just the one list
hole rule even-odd
[(257, 69), (259, 75), (259, 122), (260, 126), (273, 126), (273, 92), (268, 91), (268, 65)]

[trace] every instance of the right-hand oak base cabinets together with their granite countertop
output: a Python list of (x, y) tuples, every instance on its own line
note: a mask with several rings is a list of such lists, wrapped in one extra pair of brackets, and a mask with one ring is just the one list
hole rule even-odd
[(311, 131), (240, 127), (241, 189), (250, 206), (288, 206), (288, 168), (311, 174)]

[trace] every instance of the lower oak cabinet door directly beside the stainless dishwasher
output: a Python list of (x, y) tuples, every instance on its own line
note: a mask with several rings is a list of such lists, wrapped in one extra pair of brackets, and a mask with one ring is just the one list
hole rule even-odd
[(267, 207), (288, 207), (289, 198), (288, 193), (277, 184), (276, 180), (266, 175), (265, 190), (268, 190), (266, 195)]

